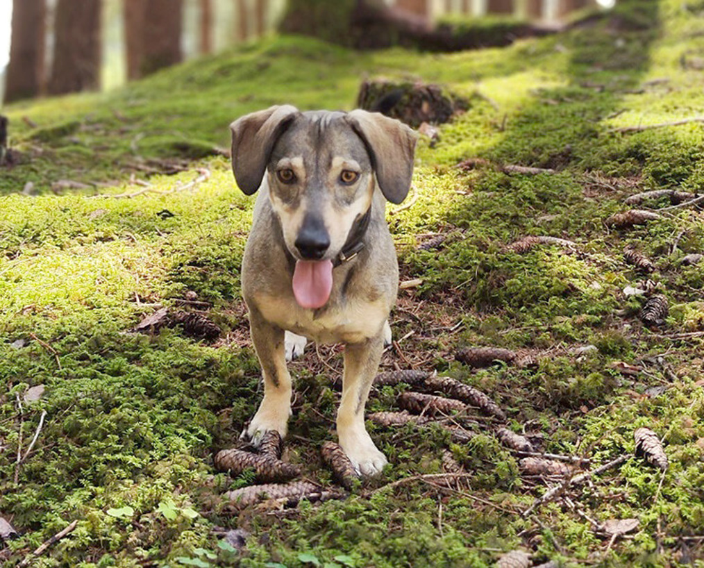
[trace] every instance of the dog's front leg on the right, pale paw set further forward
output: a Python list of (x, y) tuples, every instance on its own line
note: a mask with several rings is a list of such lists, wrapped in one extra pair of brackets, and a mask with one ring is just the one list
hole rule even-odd
[(364, 425), (364, 408), (382, 358), (382, 334), (364, 343), (345, 346), (342, 399), (337, 411), (337, 436), (352, 464), (363, 475), (384, 469), (386, 457), (372, 442)]

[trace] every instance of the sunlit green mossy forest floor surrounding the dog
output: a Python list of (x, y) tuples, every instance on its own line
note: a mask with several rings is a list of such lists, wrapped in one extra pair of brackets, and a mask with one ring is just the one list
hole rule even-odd
[[(629, 194), (702, 190), (700, 124), (614, 129), (704, 108), (696, 64), (704, 57), (704, 3), (619, 4), (565, 34), (505, 49), (360, 54), (274, 37), (111, 94), (8, 107), (23, 158), (0, 173), (0, 512), (21, 534), (8, 543), (5, 565), (78, 519), (35, 566), (298, 567), (315, 559), (482, 567), (520, 546), (536, 561), (574, 566), (704, 566), (702, 540), (681, 538), (704, 535), (704, 363), (696, 334), (704, 330), (704, 268), (680, 263), (704, 251), (704, 219), (681, 208), (632, 229), (605, 224), (629, 208)], [(609, 545), (560, 501), (523, 518), (543, 485), (522, 477), (517, 457), (491, 436), (457, 446), (439, 430), (371, 425), (391, 467), (360, 494), (291, 512), (232, 515), (222, 503), (224, 491), (246, 480), (214, 474), (213, 450), (237, 436), (260, 395), (239, 296), (252, 200), (234, 188), (227, 160), (210, 153), (227, 146), (230, 120), (272, 103), (351, 108), (365, 74), (443, 82), (472, 100), (441, 128), (439, 144), (421, 142), (417, 201), (389, 216), (403, 279), (423, 283), (401, 292), (393, 327), (405, 339), (384, 355), (384, 366), (412, 362), (479, 386), (508, 410), (514, 429), (539, 434), (543, 450), (597, 464), (631, 455), (636, 427), (654, 429), (670, 457), (664, 477), (631, 457), (577, 496), (598, 522), (638, 518), (633, 533)], [(455, 167), (477, 156), (558, 172)], [(174, 158), (187, 160), (180, 162), (187, 170), (145, 171)], [(210, 178), (169, 193), (196, 168)], [(128, 181), (131, 174), (149, 177), (153, 191), (92, 196), (143, 189)], [(96, 185), (52, 194), (61, 179)], [(109, 180), (115, 187), (97, 185)], [(27, 181), (39, 196), (18, 194)], [(436, 232), (450, 235), (444, 248), (416, 250), (420, 235)], [(581, 253), (505, 251), (528, 234), (571, 239)], [(627, 245), (657, 265), (649, 277), (671, 304), (662, 329), (644, 328), (636, 317), (641, 301), (622, 295), (648, 277), (624, 262)], [(126, 333), (187, 290), (213, 304), (210, 317), (227, 329), (224, 339), (208, 345), (176, 329)], [(593, 355), (565, 355), (588, 343), (598, 348)], [(553, 355), (536, 369), (471, 372), (453, 358), (467, 345)], [(615, 362), (641, 370), (622, 374)], [(294, 405), (289, 459), (323, 471), (318, 447), (334, 436), (339, 348), (292, 366), (305, 394)], [(37, 385), (44, 395), (25, 401)], [(390, 410), (396, 391), (382, 389), (368, 409)], [(18, 444), (26, 451), (43, 411), (34, 450), (18, 467)], [(440, 472), (447, 446), (472, 473), (462, 491), (422, 481), (384, 488)], [(215, 531), (237, 526), (251, 534), (241, 557), (219, 548)]]

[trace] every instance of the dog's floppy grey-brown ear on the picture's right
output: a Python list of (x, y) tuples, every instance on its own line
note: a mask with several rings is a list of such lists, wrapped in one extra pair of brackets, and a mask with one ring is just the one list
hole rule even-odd
[(367, 146), (384, 197), (401, 203), (410, 189), (417, 134), (403, 122), (379, 113), (356, 110), (346, 118)]

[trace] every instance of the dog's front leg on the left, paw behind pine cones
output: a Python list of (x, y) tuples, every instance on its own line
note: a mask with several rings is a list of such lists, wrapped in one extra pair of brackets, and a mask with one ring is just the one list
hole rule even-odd
[(242, 437), (258, 446), (269, 430), (286, 436), (291, 415), (291, 375), (284, 358), (284, 330), (270, 324), (256, 310), (249, 314), (249, 329), (262, 367), (264, 398)]

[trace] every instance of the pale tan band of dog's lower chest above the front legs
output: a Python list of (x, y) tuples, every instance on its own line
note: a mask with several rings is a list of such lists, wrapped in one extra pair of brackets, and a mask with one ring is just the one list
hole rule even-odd
[(293, 298), (259, 296), (257, 305), (268, 322), (316, 343), (361, 343), (379, 334), (389, 317), (389, 308), (381, 299), (306, 310)]

